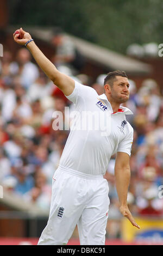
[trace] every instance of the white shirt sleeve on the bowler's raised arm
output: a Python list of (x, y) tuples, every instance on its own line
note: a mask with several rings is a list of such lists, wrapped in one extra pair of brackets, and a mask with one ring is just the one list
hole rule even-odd
[(96, 90), (93, 89), (90, 86), (84, 86), (81, 83), (78, 83), (77, 81), (75, 82), (75, 87), (73, 92), (66, 96), (68, 100), (72, 101), (74, 103), (74, 105), (76, 105), (77, 102), (83, 101), (83, 99), (86, 100), (90, 100), (92, 97), (92, 94), (97, 94)]

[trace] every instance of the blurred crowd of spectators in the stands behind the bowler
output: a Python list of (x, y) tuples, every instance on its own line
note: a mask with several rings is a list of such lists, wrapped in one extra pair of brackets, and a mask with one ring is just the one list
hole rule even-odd
[[(56, 47), (52, 62), (65, 74), (89, 85), (98, 94), (104, 93), (106, 74), (91, 77), (80, 73), (84, 59), (60, 33), (53, 38)], [(29, 51), (22, 47), (13, 59), (4, 51), (0, 60), (0, 184), (42, 209), (49, 209), (52, 176), (58, 167), (68, 130), (52, 127), (54, 111), (64, 115), (72, 105), (64, 94), (32, 62)], [(130, 99), (123, 104), (133, 111), (127, 120), (134, 127), (130, 157), (131, 180), (128, 205), (133, 215), (163, 214), (163, 100), (159, 85), (151, 79), (143, 81), (138, 90), (130, 82)], [(112, 156), (105, 178), (109, 183), (110, 209), (108, 236), (120, 232), (118, 198), (115, 188)], [(114, 221), (115, 220), (115, 221)]]

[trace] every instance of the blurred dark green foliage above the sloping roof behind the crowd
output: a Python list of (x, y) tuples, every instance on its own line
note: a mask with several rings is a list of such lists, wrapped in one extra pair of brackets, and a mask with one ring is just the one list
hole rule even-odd
[(8, 6), (10, 25), (60, 26), (122, 53), (135, 42), (163, 42), (161, 0), (10, 0)]

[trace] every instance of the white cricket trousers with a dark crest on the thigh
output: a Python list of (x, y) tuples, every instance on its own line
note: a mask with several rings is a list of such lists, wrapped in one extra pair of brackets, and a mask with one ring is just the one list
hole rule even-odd
[(49, 219), (38, 245), (66, 245), (76, 225), (80, 245), (105, 245), (108, 193), (103, 175), (59, 166), (53, 177)]

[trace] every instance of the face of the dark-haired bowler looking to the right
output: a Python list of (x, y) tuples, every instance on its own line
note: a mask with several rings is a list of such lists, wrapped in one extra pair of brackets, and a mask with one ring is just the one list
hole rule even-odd
[(129, 81), (127, 77), (116, 76), (111, 88), (111, 97), (117, 103), (124, 103), (129, 99)]

